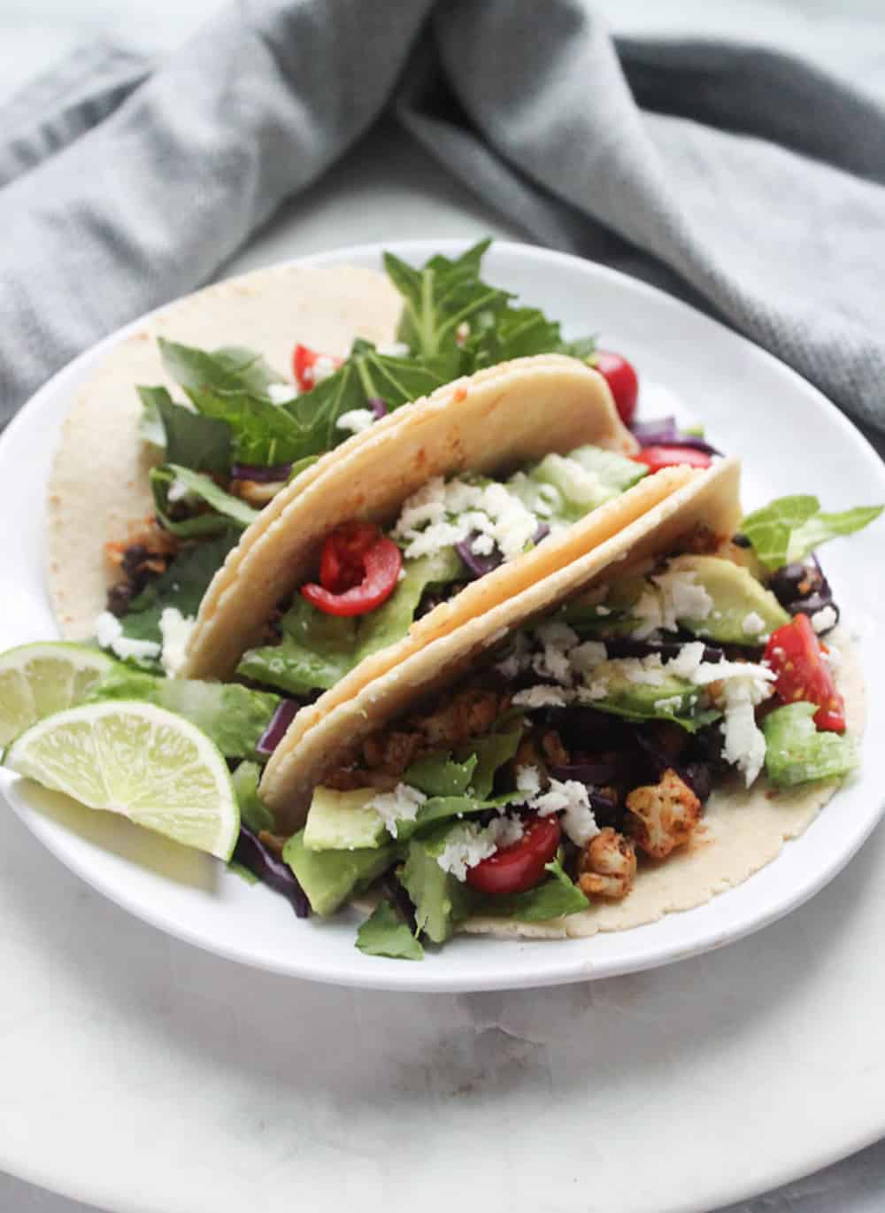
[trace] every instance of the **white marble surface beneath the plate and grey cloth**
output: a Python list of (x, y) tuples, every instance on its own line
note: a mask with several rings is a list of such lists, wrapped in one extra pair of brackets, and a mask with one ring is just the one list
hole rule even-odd
[[(125, 27), (169, 46), (216, 6), (7, 2), (1, 91), (84, 35)], [(224, 272), (484, 233), (521, 234), (387, 127)], [(22, 1178), (0, 1174), (0, 1211), (119, 1209), (125, 1194), (150, 1213), (396, 1213), (419, 1191), (430, 1211), (470, 1196), (513, 1213), (663, 1213), (758, 1190), (763, 1169), (789, 1179), (796, 1160), (823, 1164), (885, 1126), (884, 875), (880, 828), (812, 902), (724, 951), (552, 991), (394, 997), (175, 943), (2, 814), (0, 1167)], [(884, 1178), (885, 1145), (872, 1146), (730, 1213), (872, 1213)]]

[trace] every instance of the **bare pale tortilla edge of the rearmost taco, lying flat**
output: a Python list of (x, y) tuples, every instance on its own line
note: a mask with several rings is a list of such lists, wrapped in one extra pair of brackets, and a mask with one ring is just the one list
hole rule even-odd
[(136, 385), (178, 391), (156, 344), (250, 346), (289, 374), (295, 341), (347, 354), (353, 338), (394, 337), (401, 300), (384, 275), (358, 266), (261, 269), (189, 295), (116, 344), (76, 394), (48, 484), (48, 588), (62, 634), (92, 633), (115, 570), (103, 546), (153, 514)]

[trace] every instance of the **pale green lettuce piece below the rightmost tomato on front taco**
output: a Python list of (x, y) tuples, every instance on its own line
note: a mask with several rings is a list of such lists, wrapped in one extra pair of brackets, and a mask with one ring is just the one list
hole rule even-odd
[(857, 765), (853, 738), (817, 730), (816, 704), (787, 704), (763, 721), (765, 773), (778, 787), (847, 775)]

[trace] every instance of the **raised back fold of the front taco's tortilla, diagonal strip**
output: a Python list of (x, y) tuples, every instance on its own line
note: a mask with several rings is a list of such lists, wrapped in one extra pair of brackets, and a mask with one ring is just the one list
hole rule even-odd
[[(737, 529), (741, 508), (736, 460), (725, 460), (707, 472), (669, 468), (636, 488), (645, 484), (651, 490), (656, 482), (667, 486), (668, 495), (633, 518), (624, 520), (620, 511), (613, 511), (615, 517), (600, 517), (607, 508), (603, 507), (570, 528), (566, 535), (575, 551), (567, 563), (523, 585), (485, 611), (475, 611), (453, 631), (427, 640), (423, 647), (412, 644), (407, 653), (400, 650), (395, 666), (366, 679), (331, 711), (299, 712), (272, 754), (261, 784), (262, 799), (276, 813), (280, 827), (292, 830), (301, 825), (313, 788), (341, 765), (348, 751), (406, 712), (410, 704), (455, 682), (508, 632), (589, 590), (605, 579), (612, 565), (667, 552), (678, 536), (697, 524), (718, 535), (731, 535)], [(624, 494), (609, 506), (616, 507), (629, 496)], [(611, 529), (612, 523), (618, 525)], [(479, 588), (486, 580), (490, 579), (484, 577), (475, 586)]]

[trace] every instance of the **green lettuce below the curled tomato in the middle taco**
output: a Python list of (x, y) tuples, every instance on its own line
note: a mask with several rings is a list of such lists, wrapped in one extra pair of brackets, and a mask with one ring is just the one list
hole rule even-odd
[(236, 667), (239, 676), (292, 695), (329, 690), (364, 657), (406, 636), (429, 585), (463, 575), (453, 548), (407, 560), (404, 568), (405, 576), (387, 602), (359, 617), (326, 615), (296, 594), (281, 620), (281, 643), (245, 653)]

